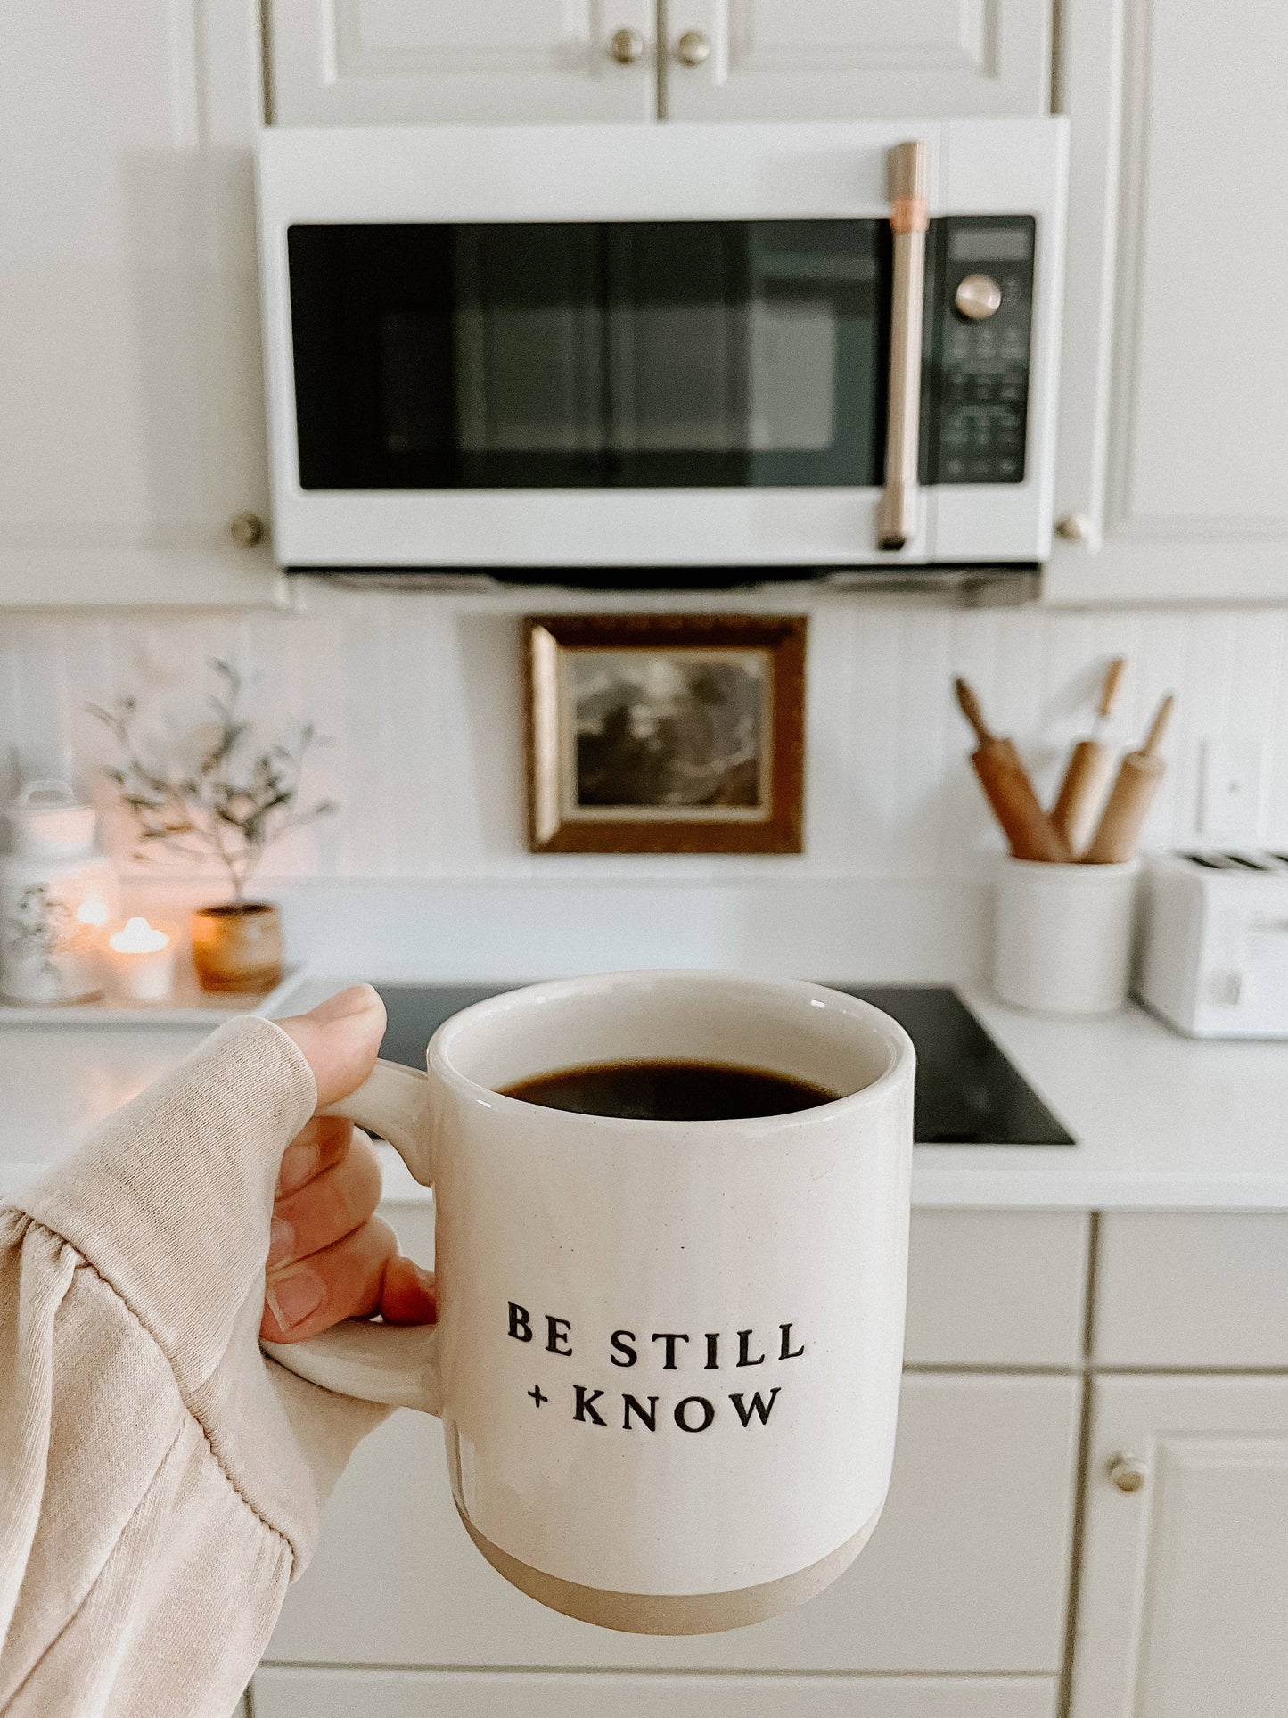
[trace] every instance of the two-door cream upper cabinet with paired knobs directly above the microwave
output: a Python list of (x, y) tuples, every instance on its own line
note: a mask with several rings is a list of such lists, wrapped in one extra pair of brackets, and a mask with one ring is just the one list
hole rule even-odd
[(1048, 110), (1048, 0), (271, 0), (273, 119)]

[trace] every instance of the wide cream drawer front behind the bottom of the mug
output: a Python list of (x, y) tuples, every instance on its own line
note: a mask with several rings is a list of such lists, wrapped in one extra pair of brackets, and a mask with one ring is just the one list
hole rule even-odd
[(266, 1660), (1056, 1672), (1080, 1388), (910, 1374), (890, 1502), (857, 1563), (785, 1617), (678, 1639), (592, 1629), (510, 1587), (457, 1520), (438, 1424), (400, 1412), (355, 1452)]

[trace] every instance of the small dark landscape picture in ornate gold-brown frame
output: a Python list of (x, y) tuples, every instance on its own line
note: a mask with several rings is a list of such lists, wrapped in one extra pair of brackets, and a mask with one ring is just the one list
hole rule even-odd
[(797, 854), (804, 615), (534, 615), (532, 852)]

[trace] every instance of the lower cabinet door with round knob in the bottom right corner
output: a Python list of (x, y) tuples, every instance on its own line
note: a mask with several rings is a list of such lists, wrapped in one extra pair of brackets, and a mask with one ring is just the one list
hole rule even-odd
[(1084, 1558), (1072, 1718), (1283, 1718), (1288, 1378), (1099, 1380)]

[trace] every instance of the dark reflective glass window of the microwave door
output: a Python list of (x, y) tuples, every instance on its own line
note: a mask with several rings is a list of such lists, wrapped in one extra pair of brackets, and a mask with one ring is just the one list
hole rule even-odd
[(881, 481), (876, 220), (295, 225), (301, 484)]

